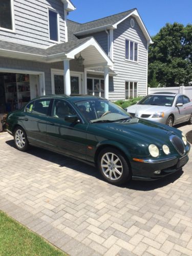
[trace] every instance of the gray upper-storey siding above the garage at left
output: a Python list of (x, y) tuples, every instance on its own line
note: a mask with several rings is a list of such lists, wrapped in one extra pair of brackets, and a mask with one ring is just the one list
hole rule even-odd
[(59, 13), (60, 42), (65, 42), (64, 7), (61, 0), (14, 0), (15, 33), (0, 29), (0, 39), (27, 44), (35, 47), (48, 47), (49, 41), (48, 8)]

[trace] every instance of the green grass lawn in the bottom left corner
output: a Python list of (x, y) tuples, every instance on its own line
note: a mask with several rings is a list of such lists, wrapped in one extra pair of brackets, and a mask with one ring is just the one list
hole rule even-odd
[(0, 255), (66, 255), (0, 211)]

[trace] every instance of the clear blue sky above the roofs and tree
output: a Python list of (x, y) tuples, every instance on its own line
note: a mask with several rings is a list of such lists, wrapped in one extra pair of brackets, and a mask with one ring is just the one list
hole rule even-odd
[(76, 7), (68, 18), (90, 22), (137, 8), (148, 32), (156, 35), (166, 23), (192, 24), (192, 0), (71, 0)]

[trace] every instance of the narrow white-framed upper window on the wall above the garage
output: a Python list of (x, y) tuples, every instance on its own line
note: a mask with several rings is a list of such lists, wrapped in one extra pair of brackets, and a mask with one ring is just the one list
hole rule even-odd
[(58, 13), (49, 10), (49, 39), (58, 41)]

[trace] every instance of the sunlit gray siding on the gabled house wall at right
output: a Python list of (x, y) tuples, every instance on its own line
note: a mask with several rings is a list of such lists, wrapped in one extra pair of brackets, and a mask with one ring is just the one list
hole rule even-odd
[[(118, 75), (113, 77), (113, 87), (110, 86), (111, 100), (125, 98), (125, 81), (137, 81), (138, 96), (146, 95), (147, 41), (136, 20), (135, 27), (131, 28), (130, 19), (125, 19), (114, 30), (114, 71)], [(138, 63), (125, 60), (125, 38), (138, 43)]]

